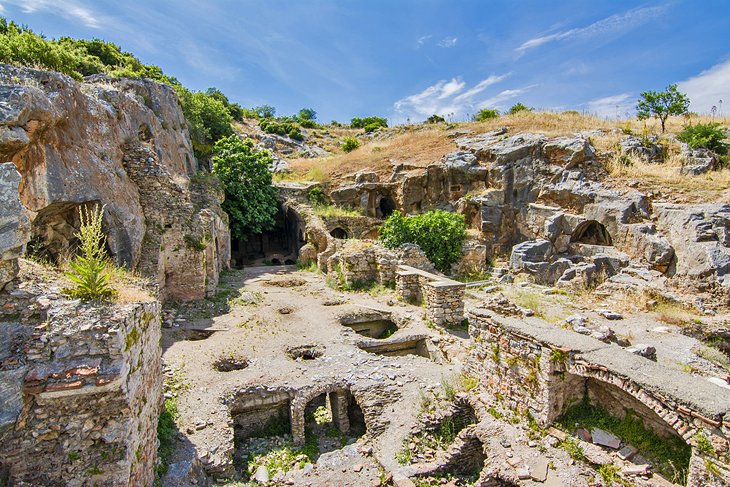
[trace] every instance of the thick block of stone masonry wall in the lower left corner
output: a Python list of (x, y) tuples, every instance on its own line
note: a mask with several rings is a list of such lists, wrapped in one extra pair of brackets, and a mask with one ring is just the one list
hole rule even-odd
[[(39, 298), (41, 300), (42, 298)], [(48, 298), (3, 323), (0, 466), (11, 485), (151, 485), (162, 401), (160, 305)]]

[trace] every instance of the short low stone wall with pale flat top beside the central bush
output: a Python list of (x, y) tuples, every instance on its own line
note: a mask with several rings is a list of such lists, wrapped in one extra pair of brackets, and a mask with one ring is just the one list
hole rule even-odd
[(464, 320), (463, 282), (453, 281), (407, 265), (399, 265), (395, 273), (396, 292), (406, 301), (423, 302), (426, 319), (439, 326)]

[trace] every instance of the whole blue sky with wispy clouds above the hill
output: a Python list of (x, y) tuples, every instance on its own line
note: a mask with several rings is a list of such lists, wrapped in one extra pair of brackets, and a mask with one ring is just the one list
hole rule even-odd
[(623, 117), (669, 83), (693, 111), (730, 114), (728, 0), (0, 0), (0, 14), (323, 121), (464, 119), (518, 101)]

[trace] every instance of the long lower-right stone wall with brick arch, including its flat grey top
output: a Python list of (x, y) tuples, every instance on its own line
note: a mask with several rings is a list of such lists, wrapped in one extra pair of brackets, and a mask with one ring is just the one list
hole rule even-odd
[[(687, 485), (706, 485), (710, 479), (708, 463), (696, 457), (712, 462), (720, 478), (728, 478), (730, 396), (723, 389), (698, 379), (691, 390), (678, 388), (676, 384), (693, 379), (674, 377), (680, 373), (610, 345), (594, 345), (587, 337), (573, 338), (566, 330), (506, 326), (480, 309), (469, 313), (469, 323), (474, 350), (467, 370), (479, 377), (488, 393), (483, 397), (528, 410), (543, 426), (584, 397), (617, 416), (631, 411), (646, 427), (678, 436), (692, 447)], [(713, 453), (698, 448), (699, 435), (710, 440)]]

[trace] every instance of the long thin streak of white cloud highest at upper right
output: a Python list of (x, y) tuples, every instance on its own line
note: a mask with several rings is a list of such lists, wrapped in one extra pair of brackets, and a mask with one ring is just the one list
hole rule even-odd
[(542, 46), (549, 42), (555, 42), (574, 37), (591, 37), (595, 35), (605, 34), (608, 32), (617, 32), (621, 30), (631, 29), (645, 22), (648, 22), (651, 19), (656, 18), (658, 15), (664, 12), (666, 8), (667, 6), (665, 5), (658, 7), (635, 8), (622, 14), (611, 15), (610, 17), (601, 19), (586, 27), (577, 27), (574, 29), (555, 32), (540, 37), (534, 37), (523, 42), (520, 47), (515, 49), (515, 51), (517, 51), (518, 54), (524, 54), (529, 49)]

